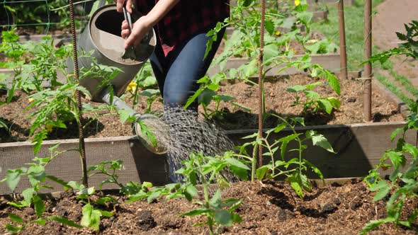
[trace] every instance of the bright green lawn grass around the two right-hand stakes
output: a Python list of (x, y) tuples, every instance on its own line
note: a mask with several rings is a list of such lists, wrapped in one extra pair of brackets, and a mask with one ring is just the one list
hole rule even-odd
[[(384, 0), (373, 0), (373, 9)], [(364, 1), (356, 0), (352, 6), (344, 6), (344, 20), (346, 28), (347, 65), (349, 70), (358, 70), (358, 64), (364, 57), (363, 18)], [(373, 10), (372, 14), (375, 14)], [(332, 42), (339, 45), (338, 11), (336, 6), (329, 7), (329, 21), (312, 24), (312, 30), (322, 33)], [(373, 52), (378, 52), (373, 48)]]

